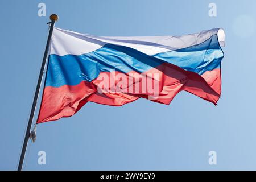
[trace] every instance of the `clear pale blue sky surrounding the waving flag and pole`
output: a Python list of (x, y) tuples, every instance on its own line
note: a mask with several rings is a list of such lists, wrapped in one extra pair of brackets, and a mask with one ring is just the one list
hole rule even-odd
[[(38, 4), (46, 3), (46, 17)], [(209, 17), (208, 5), (217, 5)], [(187, 92), (169, 106), (140, 99), (88, 103), (73, 117), (38, 125), (25, 170), (256, 169), (255, 1), (0, 1), (0, 169), (18, 166), (48, 35), (56, 27), (99, 36), (183, 35), (222, 27), (217, 106)], [(38, 152), (46, 151), (46, 165)], [(217, 152), (209, 165), (208, 152)]]

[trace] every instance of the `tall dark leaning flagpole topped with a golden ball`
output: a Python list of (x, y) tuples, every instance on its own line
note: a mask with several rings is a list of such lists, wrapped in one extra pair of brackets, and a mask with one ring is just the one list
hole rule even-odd
[(48, 56), (49, 44), (51, 42), (54, 24), (58, 20), (58, 16), (56, 14), (52, 14), (50, 16), (50, 20), (51, 20), (51, 22), (49, 22), (49, 23), (51, 23), (51, 27), (50, 27), (49, 35), (48, 35), (48, 39), (47, 39), (46, 50), (44, 51), (43, 62), (42, 62), (42, 66), (41, 66), (40, 74), (39, 74), (39, 78), (38, 78), (38, 84), (36, 85), (34, 101), (33, 101), (31, 112), (30, 112), (30, 119), (28, 120), (27, 131), (26, 131), (26, 135), (25, 135), (25, 138), (24, 138), (22, 152), (20, 154), (18, 171), (22, 171), (23, 162), (24, 162), (26, 149), (27, 149), (27, 142), (28, 142), (28, 139), (30, 137), (30, 130), (31, 130), (32, 122), (33, 122), (34, 115), (35, 115), (36, 103), (38, 101), (40, 86), (41, 86), (41, 83), (42, 83), (44, 67), (46, 67), (46, 59), (47, 59), (47, 56)]

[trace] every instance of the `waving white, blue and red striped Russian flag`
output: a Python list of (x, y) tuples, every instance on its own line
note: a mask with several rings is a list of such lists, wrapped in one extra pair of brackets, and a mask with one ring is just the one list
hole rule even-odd
[(37, 123), (70, 117), (87, 102), (138, 98), (169, 105), (181, 90), (217, 104), (221, 28), (184, 36), (102, 37), (54, 28)]

